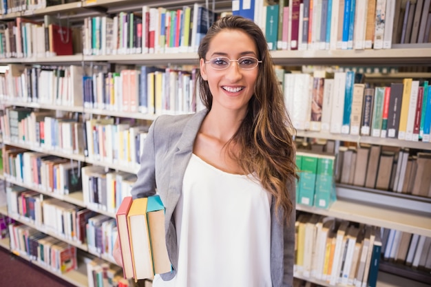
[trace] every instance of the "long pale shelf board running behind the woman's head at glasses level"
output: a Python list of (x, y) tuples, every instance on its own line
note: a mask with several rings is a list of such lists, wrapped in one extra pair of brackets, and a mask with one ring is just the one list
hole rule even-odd
[[(276, 50), (271, 51), (277, 65), (426, 65), (431, 62), (431, 44), (428, 47), (385, 50)], [(42, 58), (8, 58), (0, 63), (82, 63), (109, 62), (130, 65), (198, 65), (195, 52), (159, 54), (116, 54), (53, 56)]]

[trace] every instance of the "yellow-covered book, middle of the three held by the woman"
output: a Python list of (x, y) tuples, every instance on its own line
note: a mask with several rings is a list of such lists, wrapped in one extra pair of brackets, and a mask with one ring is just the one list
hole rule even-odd
[(127, 213), (135, 281), (154, 277), (147, 226), (147, 198), (136, 198)]

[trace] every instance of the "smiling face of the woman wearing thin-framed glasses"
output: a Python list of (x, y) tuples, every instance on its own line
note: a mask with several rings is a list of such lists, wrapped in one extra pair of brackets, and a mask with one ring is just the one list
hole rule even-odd
[(245, 114), (259, 69), (242, 70), (236, 61), (232, 61), (226, 70), (214, 70), (209, 63), (205, 63), (218, 56), (231, 60), (242, 56), (257, 58), (255, 41), (242, 30), (222, 30), (211, 39), (205, 59), (200, 59), (201, 76), (208, 81), (213, 95), (211, 109), (229, 109)]

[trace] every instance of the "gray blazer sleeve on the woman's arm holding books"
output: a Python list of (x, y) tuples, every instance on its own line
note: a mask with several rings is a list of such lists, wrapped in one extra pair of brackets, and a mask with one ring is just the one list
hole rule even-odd
[(156, 170), (155, 170), (155, 149), (154, 149), (154, 128), (157, 119), (151, 124), (147, 138), (140, 156), (140, 168), (137, 174), (138, 179), (132, 187), (132, 198), (147, 198), (156, 194)]

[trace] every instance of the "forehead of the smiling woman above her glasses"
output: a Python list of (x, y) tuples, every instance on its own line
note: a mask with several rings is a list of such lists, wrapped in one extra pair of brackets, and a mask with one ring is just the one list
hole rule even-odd
[(207, 55), (226, 54), (238, 56), (240, 54), (257, 55), (256, 43), (249, 34), (239, 29), (224, 29), (216, 34), (209, 43)]

